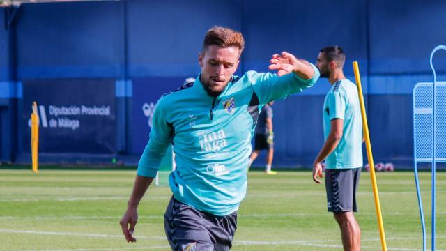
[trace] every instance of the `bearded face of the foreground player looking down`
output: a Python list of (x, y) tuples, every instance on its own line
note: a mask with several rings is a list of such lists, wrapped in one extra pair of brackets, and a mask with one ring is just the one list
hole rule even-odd
[(210, 96), (218, 96), (228, 85), (238, 66), (238, 47), (209, 45), (201, 52), (198, 61), (201, 66), (201, 83)]

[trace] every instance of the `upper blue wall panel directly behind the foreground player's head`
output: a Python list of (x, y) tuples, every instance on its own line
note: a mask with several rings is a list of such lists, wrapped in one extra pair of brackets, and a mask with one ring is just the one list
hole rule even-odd
[(183, 77), (199, 73), (203, 34), (214, 26), (242, 29), (242, 2), (128, 1), (129, 77)]

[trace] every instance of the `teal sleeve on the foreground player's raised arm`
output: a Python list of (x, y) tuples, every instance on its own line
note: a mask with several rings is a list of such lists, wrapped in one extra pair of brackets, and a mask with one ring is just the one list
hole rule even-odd
[(247, 72), (247, 76), (252, 82), (254, 92), (259, 97), (259, 102), (263, 105), (273, 100), (282, 100), (290, 94), (300, 93), (313, 86), (320, 74), (316, 66), (311, 65), (314, 69), (311, 79), (301, 79), (295, 73), (279, 77), (275, 73), (256, 73), (254, 71)]

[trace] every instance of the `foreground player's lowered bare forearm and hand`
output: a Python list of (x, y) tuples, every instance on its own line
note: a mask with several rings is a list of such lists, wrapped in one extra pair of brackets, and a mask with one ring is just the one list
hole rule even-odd
[(134, 180), (132, 195), (130, 195), (127, 204), (127, 211), (125, 211), (123, 218), (119, 221), (125, 240), (128, 242), (137, 241), (137, 239), (133, 237), (133, 231), (134, 226), (137, 225), (138, 221), (138, 205), (152, 181), (153, 178), (139, 175), (137, 175), (137, 178)]

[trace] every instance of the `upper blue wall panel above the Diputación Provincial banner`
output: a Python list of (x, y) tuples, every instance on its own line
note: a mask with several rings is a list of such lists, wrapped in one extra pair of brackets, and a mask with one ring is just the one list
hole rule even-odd
[(18, 77), (120, 77), (122, 20), (118, 1), (20, 6)]

